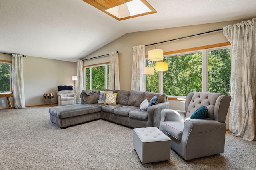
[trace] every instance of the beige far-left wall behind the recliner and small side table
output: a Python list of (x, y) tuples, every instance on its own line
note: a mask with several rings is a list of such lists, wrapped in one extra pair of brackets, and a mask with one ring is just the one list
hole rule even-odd
[[(0, 60), (12, 60), (11, 55), (0, 54)], [(74, 81), (71, 76), (76, 75), (76, 63), (40, 57), (23, 58), (23, 78), (26, 106), (44, 104), (44, 93), (54, 93), (58, 85), (72, 85)], [(13, 106), (13, 99), (11, 99)], [(2, 104), (1, 101), (5, 100)], [(46, 104), (49, 101), (46, 100)], [(57, 96), (54, 96), (53, 103), (57, 103)], [(6, 98), (0, 98), (0, 109), (8, 108)]]

